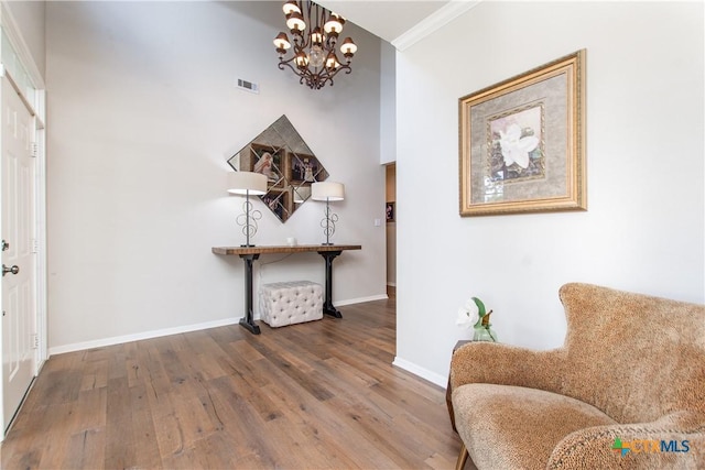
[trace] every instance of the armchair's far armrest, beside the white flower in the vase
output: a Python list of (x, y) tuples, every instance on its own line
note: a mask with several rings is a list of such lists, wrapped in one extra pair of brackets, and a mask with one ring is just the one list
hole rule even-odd
[(497, 342), (473, 341), (451, 360), (451, 389), (468, 383), (495, 383), (561, 392), (563, 349), (536, 351)]

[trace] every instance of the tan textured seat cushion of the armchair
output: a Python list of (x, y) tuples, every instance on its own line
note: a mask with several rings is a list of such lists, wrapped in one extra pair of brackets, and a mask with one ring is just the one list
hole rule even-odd
[(458, 435), (478, 469), (543, 469), (568, 434), (617, 424), (575, 398), (522, 386), (471, 383), (452, 400)]

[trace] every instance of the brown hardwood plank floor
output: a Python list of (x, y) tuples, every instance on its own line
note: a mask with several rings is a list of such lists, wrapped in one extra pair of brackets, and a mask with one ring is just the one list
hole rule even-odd
[(391, 365), (395, 306), (53, 356), (3, 469), (445, 469), (444, 390)]

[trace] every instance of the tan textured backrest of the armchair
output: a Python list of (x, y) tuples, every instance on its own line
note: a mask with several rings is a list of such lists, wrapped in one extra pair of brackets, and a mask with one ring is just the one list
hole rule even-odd
[(566, 284), (563, 393), (619, 423), (705, 413), (705, 305)]

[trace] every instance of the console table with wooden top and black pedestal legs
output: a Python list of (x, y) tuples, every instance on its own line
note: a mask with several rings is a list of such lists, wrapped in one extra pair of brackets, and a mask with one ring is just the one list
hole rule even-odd
[(336, 318), (343, 315), (333, 306), (333, 260), (345, 250), (361, 250), (359, 244), (299, 244), (290, 245), (261, 245), (261, 247), (214, 247), (215, 254), (237, 254), (245, 262), (245, 317), (240, 318), (240, 326), (247, 328), (253, 335), (260, 334), (260, 327), (254, 324), (252, 313), (252, 263), (260, 254), (276, 253), (307, 253), (316, 252), (326, 262), (326, 288), (323, 303), (323, 313)]

